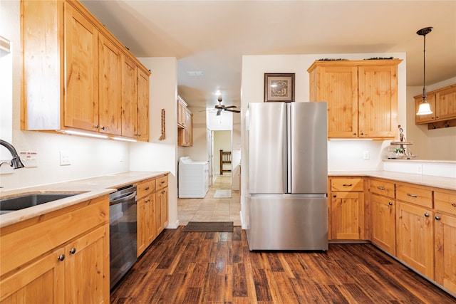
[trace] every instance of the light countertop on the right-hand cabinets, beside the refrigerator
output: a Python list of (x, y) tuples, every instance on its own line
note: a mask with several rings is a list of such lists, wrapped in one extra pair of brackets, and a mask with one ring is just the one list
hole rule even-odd
[(420, 184), (423, 186), (456, 190), (456, 179), (450, 177), (435, 177), (424, 174), (410, 174), (393, 171), (329, 171), (328, 176), (356, 176), (356, 177), (378, 177), (381, 179), (390, 179), (396, 182), (408, 182), (411, 184)]

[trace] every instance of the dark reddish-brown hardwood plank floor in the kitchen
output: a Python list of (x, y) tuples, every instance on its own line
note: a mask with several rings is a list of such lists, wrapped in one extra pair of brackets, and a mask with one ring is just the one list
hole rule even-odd
[(245, 231), (165, 229), (110, 303), (456, 303), (371, 244), (251, 252)]

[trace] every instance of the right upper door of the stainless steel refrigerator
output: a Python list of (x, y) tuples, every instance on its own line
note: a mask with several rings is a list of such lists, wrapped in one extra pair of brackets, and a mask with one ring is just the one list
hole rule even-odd
[(328, 192), (328, 105), (290, 103), (291, 193)]

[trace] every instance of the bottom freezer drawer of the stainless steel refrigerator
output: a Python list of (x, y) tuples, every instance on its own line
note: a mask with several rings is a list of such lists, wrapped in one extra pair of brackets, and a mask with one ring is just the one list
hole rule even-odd
[(328, 250), (328, 199), (324, 195), (252, 195), (250, 250)]

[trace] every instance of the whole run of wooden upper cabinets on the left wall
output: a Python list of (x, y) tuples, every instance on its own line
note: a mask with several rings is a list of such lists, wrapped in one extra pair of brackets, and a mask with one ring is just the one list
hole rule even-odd
[(22, 130), (148, 140), (150, 73), (79, 1), (22, 0), (21, 39)]

